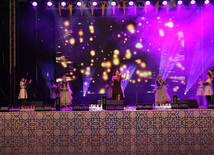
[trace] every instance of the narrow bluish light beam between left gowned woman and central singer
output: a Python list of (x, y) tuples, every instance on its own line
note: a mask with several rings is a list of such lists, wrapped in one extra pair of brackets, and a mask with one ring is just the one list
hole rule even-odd
[(82, 69), (83, 73), (83, 96), (86, 96), (86, 93), (88, 91), (88, 87), (91, 83), (91, 80), (92, 80), (92, 77), (93, 77), (93, 74), (94, 74), (94, 71), (95, 69), (91, 68), (91, 67), (86, 67), (85, 68), (85, 71), (84, 69)]

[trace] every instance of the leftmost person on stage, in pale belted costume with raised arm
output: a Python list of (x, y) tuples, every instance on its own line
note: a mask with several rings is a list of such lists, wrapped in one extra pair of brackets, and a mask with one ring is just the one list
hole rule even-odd
[(31, 84), (32, 80), (30, 80), (29, 82), (25, 81), (25, 78), (21, 78), (21, 81), (19, 83), (20, 85), (20, 91), (19, 91), (19, 105), (20, 106), (20, 103), (24, 100), (26, 100), (28, 98), (27, 96), (27, 87)]

